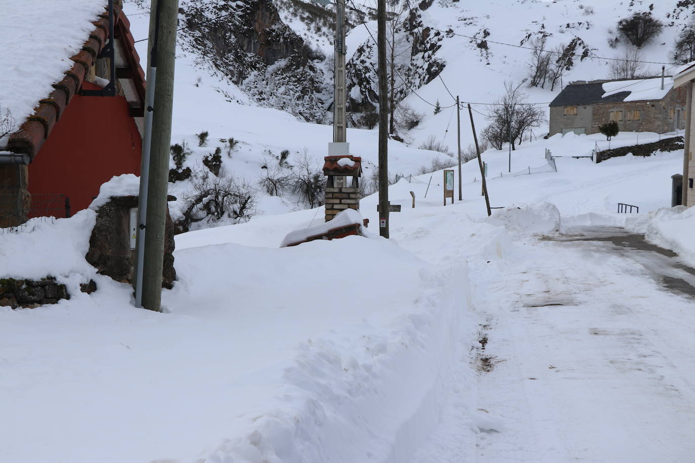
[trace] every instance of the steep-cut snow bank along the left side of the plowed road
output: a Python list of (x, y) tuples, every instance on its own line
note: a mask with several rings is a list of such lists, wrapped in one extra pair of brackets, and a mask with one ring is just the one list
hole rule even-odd
[[(300, 344), (284, 371), (284, 407), (254, 416), (244, 435), (225, 439), (201, 461), (408, 461), (439, 423), (450, 369), (466, 355), (457, 346), (461, 330), (473, 339), (477, 326), (466, 268), (420, 275), (413, 310), (388, 329), (364, 319), (359, 337)], [(472, 370), (466, 380), (475, 385)], [(469, 417), (460, 432), (474, 435), (480, 432), (474, 396), (461, 401)]]

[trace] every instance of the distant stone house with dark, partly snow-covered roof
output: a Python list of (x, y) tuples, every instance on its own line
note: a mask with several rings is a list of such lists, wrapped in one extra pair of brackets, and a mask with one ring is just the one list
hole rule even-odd
[(550, 135), (598, 133), (616, 121), (621, 131), (667, 133), (685, 128), (685, 90), (671, 77), (575, 81), (550, 103)]

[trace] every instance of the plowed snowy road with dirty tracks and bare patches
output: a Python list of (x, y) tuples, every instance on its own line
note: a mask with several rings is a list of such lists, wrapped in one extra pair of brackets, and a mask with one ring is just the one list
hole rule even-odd
[[(479, 462), (695, 455), (694, 298), (658, 278), (692, 275), (677, 259), (616, 246), (605, 238), (614, 230), (589, 231), (591, 240), (526, 239), (505, 265), (471, 266), (486, 320), (479, 366), (491, 369), (480, 373), (478, 409), (498, 416), (479, 435)], [(443, 420), (441, 432), (454, 425)]]

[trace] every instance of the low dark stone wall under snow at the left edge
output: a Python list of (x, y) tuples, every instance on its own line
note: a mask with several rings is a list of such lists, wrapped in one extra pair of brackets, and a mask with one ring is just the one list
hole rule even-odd
[[(97, 289), (96, 283), (80, 285), (82, 292), (90, 293)], [(0, 278), (0, 305), (13, 309), (36, 308), (44, 304), (55, 304), (60, 299), (70, 299), (65, 285), (56, 282), (56, 278), (47, 276), (40, 280), (22, 280)]]

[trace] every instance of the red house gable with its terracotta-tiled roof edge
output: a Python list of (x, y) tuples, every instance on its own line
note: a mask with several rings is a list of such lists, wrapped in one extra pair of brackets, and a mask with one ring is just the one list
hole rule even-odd
[[(145, 74), (135, 51), (130, 23), (122, 12), (122, 0), (113, 2), (116, 96), (83, 96), (82, 90), (101, 90), (108, 78), (108, 59), (99, 53), (108, 43), (108, 11), (79, 53), (74, 65), (54, 91), (38, 102), (19, 131), (10, 135), (7, 149), (24, 154), (28, 165), (30, 217), (56, 215), (44, 212), (42, 203), (67, 198), (72, 211), (87, 208), (99, 186), (120, 174), (140, 174), (142, 140), (136, 117), (142, 117)], [(60, 196), (62, 195), (62, 196)], [(58, 199), (60, 198), (60, 200)]]

